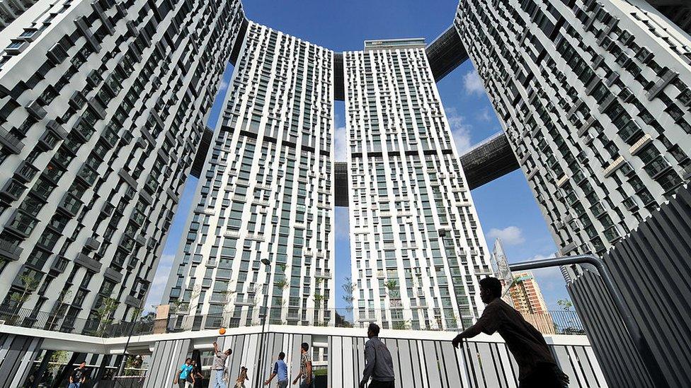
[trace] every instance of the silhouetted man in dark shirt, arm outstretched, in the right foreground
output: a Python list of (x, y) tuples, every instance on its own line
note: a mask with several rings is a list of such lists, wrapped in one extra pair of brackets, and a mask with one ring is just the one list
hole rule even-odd
[(486, 303), (476, 324), (453, 339), (458, 348), (463, 339), (480, 333), (499, 335), (518, 364), (520, 388), (563, 388), (569, 377), (556, 366), (542, 334), (525, 321), (513, 307), (501, 300), (501, 282), (498, 278), (484, 278), (480, 282), (480, 298)]

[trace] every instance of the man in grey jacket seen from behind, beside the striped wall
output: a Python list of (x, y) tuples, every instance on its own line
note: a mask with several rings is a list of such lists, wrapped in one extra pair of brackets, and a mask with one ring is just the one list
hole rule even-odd
[(394, 388), (394, 362), (389, 348), (379, 339), (379, 326), (371, 323), (367, 328), (365, 343), (365, 370), (362, 372), (360, 388), (372, 377), (370, 388)]

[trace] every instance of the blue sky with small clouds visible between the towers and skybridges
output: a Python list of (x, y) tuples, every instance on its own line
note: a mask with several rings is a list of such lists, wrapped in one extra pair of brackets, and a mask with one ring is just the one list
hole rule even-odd
[[(245, 0), (243, 4), (247, 17), (256, 23), (340, 52), (362, 49), (362, 42), (370, 39), (425, 37), (430, 42), (451, 25), (457, 1)], [(210, 127), (214, 126), (218, 117), (231, 76), (232, 66), (229, 66), (212, 107), (208, 123)], [(437, 86), (459, 151), (501, 131), (501, 125), (470, 61), (459, 66)], [(343, 160), (343, 102), (336, 102), (335, 113), (336, 159)], [(185, 184), (147, 305), (157, 304), (161, 300), (173, 255), (183, 236), (196, 184), (194, 177), (190, 177)], [(472, 196), (490, 249), (494, 239), (500, 237), (509, 261), (537, 259), (554, 254), (556, 246), (520, 170), (474, 189)], [(341, 306), (343, 301), (340, 285), (343, 278), (350, 275), (347, 208), (336, 208), (335, 224), (336, 305)], [(556, 300), (567, 297), (559, 270), (543, 269), (535, 271), (535, 274), (548, 307), (556, 309)]]

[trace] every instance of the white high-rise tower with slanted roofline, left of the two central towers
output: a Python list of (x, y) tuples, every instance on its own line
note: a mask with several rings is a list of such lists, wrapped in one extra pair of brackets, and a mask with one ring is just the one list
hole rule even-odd
[(164, 304), (205, 327), (333, 319), (332, 136), (333, 52), (250, 23)]

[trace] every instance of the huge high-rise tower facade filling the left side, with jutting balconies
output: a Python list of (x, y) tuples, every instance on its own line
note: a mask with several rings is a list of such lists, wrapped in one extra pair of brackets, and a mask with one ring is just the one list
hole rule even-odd
[(4, 310), (144, 307), (243, 21), (232, 0), (41, 2), (3, 30)]

